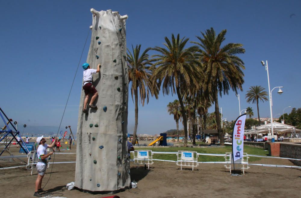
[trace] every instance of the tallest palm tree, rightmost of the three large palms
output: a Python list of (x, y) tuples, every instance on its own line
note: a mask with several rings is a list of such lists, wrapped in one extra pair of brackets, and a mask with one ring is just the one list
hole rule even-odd
[[(242, 90), (244, 83), (244, 62), (237, 57), (237, 54), (245, 52), (240, 43), (228, 43), (221, 46), (225, 41), (225, 34), (227, 30), (222, 30), (217, 36), (215, 30), (211, 28), (205, 33), (201, 32), (203, 38), (197, 36), (200, 42), (193, 42), (199, 45), (199, 52), (201, 60), (204, 65), (205, 84), (207, 89), (213, 96), (215, 103), (216, 120), (220, 120), (218, 94), (228, 94), (230, 88), (237, 92), (237, 89)], [(221, 123), (218, 121), (217, 130), (221, 145), (224, 145), (224, 133), (222, 131)]]

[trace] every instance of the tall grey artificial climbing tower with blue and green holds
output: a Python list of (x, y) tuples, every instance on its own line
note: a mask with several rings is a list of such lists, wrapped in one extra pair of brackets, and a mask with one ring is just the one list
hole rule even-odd
[(88, 114), (82, 112), (85, 98), (82, 90), (75, 187), (88, 191), (116, 191), (130, 185), (125, 19), (118, 12), (107, 10), (96, 11), (92, 21), (87, 63), (93, 69), (101, 64), (100, 73), (93, 75), (92, 83), (98, 91), (94, 102), (98, 110), (90, 108)]

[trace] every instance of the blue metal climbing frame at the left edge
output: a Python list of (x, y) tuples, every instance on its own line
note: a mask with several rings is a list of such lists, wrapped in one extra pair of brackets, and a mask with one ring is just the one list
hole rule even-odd
[[(21, 147), (20, 150), (23, 150), (26, 154), (29, 153), (29, 150), (25, 145), (24, 141), (22, 140), (21, 136), (20, 136), (20, 131), (17, 131), (17, 129), (14, 127), (14, 125), (11, 123), (11, 119), (9, 119), (5, 113), (3, 112), (2, 108), (0, 107), (0, 116), (5, 124), (5, 126), (3, 128), (0, 128), (0, 143), (3, 143), (2, 145), (4, 145), (4, 149), (1, 151), (0, 156), (2, 155), (2, 153), (4, 151), (7, 151), (11, 142), (13, 140), (16, 140), (16, 143)], [(12, 128), (10, 128), (10, 126), (12, 126)], [(14, 129), (14, 131), (12, 130)], [(17, 141), (17, 136), (20, 137), (21, 143), (19, 143)], [(4, 140), (4, 141), (3, 141)], [(2, 142), (3, 141), (3, 142)]]

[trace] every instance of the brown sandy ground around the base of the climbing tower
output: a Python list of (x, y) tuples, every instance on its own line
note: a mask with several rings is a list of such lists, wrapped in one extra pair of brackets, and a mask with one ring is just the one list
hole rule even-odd
[[(66, 147), (63, 144), (63, 147)], [(74, 153), (72, 150), (64, 150), (66, 153)], [(16, 147), (11, 151), (18, 153)], [(55, 162), (75, 161), (75, 154), (56, 154)], [(0, 166), (8, 163), (0, 160)], [(293, 165), (288, 160), (261, 159), (261, 164)], [(12, 164), (9, 164), (12, 166)], [(43, 179), (44, 186), (50, 177), (51, 168), (47, 169)], [(34, 197), (34, 184), (37, 173), (33, 175), (25, 168), (0, 170), (0, 197)], [(90, 194), (79, 190), (68, 191), (67, 183), (74, 181), (75, 163), (54, 164), (49, 182), (44, 190), (53, 193), (52, 196), (67, 198), (98, 198), (110, 196), (109, 194)], [(116, 193), (121, 198), (140, 197), (301, 197), (301, 170), (291, 168), (272, 168), (251, 166), (243, 177), (231, 177), (228, 169), (222, 164), (200, 164), (192, 171), (191, 168), (180, 167), (173, 162), (154, 162), (149, 170), (144, 167), (137, 168), (131, 162), (131, 180), (138, 182), (138, 188), (124, 190)], [(50, 197), (50, 196), (49, 196)]]

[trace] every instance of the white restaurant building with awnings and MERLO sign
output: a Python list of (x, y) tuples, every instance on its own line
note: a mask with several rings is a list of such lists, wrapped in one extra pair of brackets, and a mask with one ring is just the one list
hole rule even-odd
[[(290, 138), (293, 138), (293, 137), (300, 138), (301, 137), (300, 129), (297, 129), (294, 126), (282, 124), (279, 122), (273, 122), (273, 131), (274, 131), (274, 136), (276, 136), (278, 134), (282, 137), (290, 137)], [(257, 137), (258, 137), (258, 135), (262, 136), (262, 134), (268, 134), (268, 138), (271, 139), (272, 138), (271, 123), (256, 127), (255, 129), (252, 129), (252, 130), (245, 130), (244, 134), (246, 134), (246, 135), (256, 134)]]

